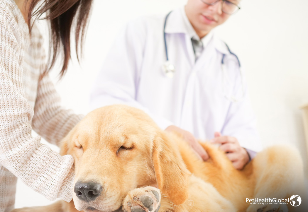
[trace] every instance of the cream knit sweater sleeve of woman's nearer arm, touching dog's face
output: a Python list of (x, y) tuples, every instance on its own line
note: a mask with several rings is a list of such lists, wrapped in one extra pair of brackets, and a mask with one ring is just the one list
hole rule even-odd
[[(25, 82), (23, 76), (20, 30), (12, 9), (1, 8), (0, 163), (46, 198), (69, 202), (73, 192), (74, 160), (71, 155), (60, 156), (41, 144), (39, 136), (31, 135), (34, 109), (23, 90), (24, 83), (29, 82)], [(65, 132), (61, 132), (62, 135)]]

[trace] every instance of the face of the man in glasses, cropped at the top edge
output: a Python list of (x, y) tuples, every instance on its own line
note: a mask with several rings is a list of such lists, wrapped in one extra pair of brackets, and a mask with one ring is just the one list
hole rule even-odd
[[(230, 2), (235, 4), (238, 4), (238, 1), (230, 0)], [(230, 17), (230, 15), (221, 11), (222, 3), (222, 1), (219, 1), (210, 6), (201, 0), (188, 0), (185, 6), (185, 12), (200, 38), (204, 37), (214, 27), (221, 25)]]

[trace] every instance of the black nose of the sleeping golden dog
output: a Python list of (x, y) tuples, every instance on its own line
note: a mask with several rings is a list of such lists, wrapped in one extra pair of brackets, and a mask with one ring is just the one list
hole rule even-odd
[(102, 186), (99, 183), (78, 181), (75, 184), (74, 192), (76, 196), (83, 201), (89, 202), (95, 200), (101, 192)]

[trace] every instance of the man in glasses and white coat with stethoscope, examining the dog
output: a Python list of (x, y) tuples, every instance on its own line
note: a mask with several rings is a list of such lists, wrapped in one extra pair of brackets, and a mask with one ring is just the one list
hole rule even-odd
[[(103, 63), (91, 105), (129, 104), (167, 131), (221, 144), (237, 169), (261, 149), (237, 56), (213, 29), (239, 0), (188, 0), (164, 16), (142, 17), (122, 30)], [(197, 138), (197, 139), (196, 139)]]

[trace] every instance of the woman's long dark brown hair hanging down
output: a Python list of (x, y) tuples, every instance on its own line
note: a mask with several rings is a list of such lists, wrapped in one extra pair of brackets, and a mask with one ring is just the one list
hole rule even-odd
[[(82, 45), (87, 22), (91, 10), (92, 0), (27, 0), (29, 4), (28, 25), (31, 32), (33, 17), (49, 20), (50, 23), (50, 45), (49, 60), (45, 73), (54, 65), (60, 53), (63, 53), (63, 66), (60, 72), (60, 78), (67, 70), (68, 62), (71, 59), (71, 31), (75, 31), (76, 54), (79, 61), (79, 51), (82, 52)], [(76, 17), (75, 17), (76, 16)], [(80, 46), (80, 48), (79, 48)]]

